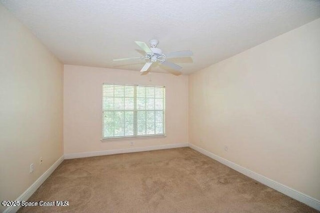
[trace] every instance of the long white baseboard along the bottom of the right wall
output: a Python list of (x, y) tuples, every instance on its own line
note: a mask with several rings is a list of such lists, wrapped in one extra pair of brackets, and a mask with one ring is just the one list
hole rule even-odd
[(228, 161), (224, 158), (221, 158), (217, 155), (214, 155), (213, 153), (210, 153), (210, 152), (208, 152), (200, 147), (197, 147), (193, 144), (189, 144), (189, 147), (198, 151), (199, 153), (202, 153), (203, 155), (206, 155), (206, 156), (220, 162), (221, 164), (224, 164), (227, 167), (230, 167), (231, 169), (234, 169), (235, 171), (237, 171), (239, 173), (242, 173), (245, 176), (248, 176), (248, 177), (250, 177), (250, 178), (252, 178), (252, 179), (254, 179), (254, 180), (286, 195), (286, 196), (289, 196), (289, 197), (291, 197), (291, 198), (293, 198), (303, 204), (308, 205), (309, 207), (312, 207), (312, 208), (320, 211), (320, 201), (315, 198), (312, 198), (308, 195), (305, 195), (301, 192), (298, 192), (298, 191), (296, 191), (290, 187), (287, 187), (283, 184), (277, 183), (276, 181), (270, 180), (262, 175), (254, 173), (248, 169), (245, 169), (235, 163), (232, 163), (231, 161)]

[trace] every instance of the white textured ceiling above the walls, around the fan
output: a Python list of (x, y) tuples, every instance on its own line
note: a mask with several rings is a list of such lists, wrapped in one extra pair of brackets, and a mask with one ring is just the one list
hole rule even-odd
[[(140, 70), (159, 40), (189, 74), (320, 17), (319, 0), (0, 0), (64, 63)], [(163, 72), (152, 66), (152, 72)]]

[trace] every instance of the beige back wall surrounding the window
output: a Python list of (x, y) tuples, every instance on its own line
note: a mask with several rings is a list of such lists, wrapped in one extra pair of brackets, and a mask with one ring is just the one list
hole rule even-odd
[[(64, 65), (64, 154), (187, 143), (188, 76)], [(166, 87), (166, 137), (101, 142), (102, 83)], [(130, 142), (133, 141), (133, 146)]]

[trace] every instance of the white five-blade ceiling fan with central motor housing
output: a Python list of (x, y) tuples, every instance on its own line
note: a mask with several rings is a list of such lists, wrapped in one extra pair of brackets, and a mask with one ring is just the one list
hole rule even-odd
[(113, 59), (113, 61), (122, 61), (122, 60), (130, 60), (130, 59), (147, 60), (147, 62), (144, 64), (140, 72), (147, 71), (151, 66), (151, 64), (157, 61), (160, 62), (162, 65), (172, 68), (174, 70), (180, 70), (182, 69), (182, 67), (170, 61), (167, 61), (166, 59), (192, 56), (192, 52), (189, 50), (162, 53), (162, 50), (156, 47), (158, 45), (158, 40), (156, 39), (149, 40), (150, 47), (148, 47), (146, 43), (142, 41), (135, 41), (135, 43), (145, 52), (145, 55), (143, 57), (118, 58), (118, 59)]

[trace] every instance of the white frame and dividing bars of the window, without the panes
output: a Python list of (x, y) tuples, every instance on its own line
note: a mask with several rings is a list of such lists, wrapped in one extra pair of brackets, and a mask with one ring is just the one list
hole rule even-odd
[[(111, 110), (103, 110), (103, 85), (113, 85), (113, 86), (134, 86), (134, 109), (133, 110), (129, 110), (129, 111), (133, 111), (133, 136), (113, 136), (113, 137), (104, 137), (104, 112), (106, 111), (111, 111)], [(137, 100), (137, 95), (136, 95), (136, 88), (137, 87), (152, 87), (152, 88), (163, 88), (163, 109), (159, 110), (159, 109), (153, 109), (153, 110), (141, 110), (141, 109), (137, 109), (137, 104), (136, 104), (136, 100)], [(113, 96), (114, 97), (114, 96)], [(102, 109), (102, 139), (101, 141), (112, 141), (112, 140), (123, 140), (123, 139), (135, 139), (135, 138), (151, 138), (151, 137), (165, 137), (165, 86), (146, 86), (146, 85), (131, 85), (131, 84), (110, 84), (110, 83), (103, 83), (102, 84), (102, 105), (101, 105), (101, 109)], [(122, 111), (122, 110), (120, 110)], [(125, 111), (125, 109), (123, 110)], [(137, 112), (138, 111), (162, 111), (162, 133), (161, 134), (145, 134), (145, 135), (138, 135), (137, 134)], [(156, 123), (154, 121), (154, 123)]]

